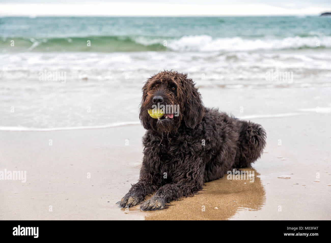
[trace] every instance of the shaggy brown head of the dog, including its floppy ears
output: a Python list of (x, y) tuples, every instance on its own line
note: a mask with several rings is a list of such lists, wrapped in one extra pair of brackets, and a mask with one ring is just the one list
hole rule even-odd
[[(175, 134), (181, 124), (194, 128), (204, 116), (201, 95), (187, 74), (162, 71), (149, 78), (142, 91), (139, 118), (147, 130)], [(163, 116), (152, 118), (148, 110), (153, 108), (161, 109)]]

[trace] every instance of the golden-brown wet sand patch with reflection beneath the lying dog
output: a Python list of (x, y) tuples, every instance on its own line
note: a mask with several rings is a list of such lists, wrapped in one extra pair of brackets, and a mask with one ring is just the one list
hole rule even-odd
[[(149, 211), (145, 220), (227, 220), (238, 210), (260, 210), (265, 201), (265, 191), (260, 174), (253, 168), (241, 168), (241, 171), (254, 172), (254, 182), (246, 180), (221, 179), (206, 182), (203, 190), (193, 197), (172, 201), (167, 209)], [(146, 197), (146, 200), (150, 197)], [(218, 209), (215, 209), (218, 208)], [(139, 205), (126, 213), (140, 211)], [(141, 212), (141, 211), (140, 211)]]

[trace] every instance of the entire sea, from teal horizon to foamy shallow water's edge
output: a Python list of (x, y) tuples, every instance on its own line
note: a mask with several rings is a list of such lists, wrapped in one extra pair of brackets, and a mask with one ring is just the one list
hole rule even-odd
[(1, 130), (139, 123), (142, 84), (164, 69), (243, 119), (331, 112), (327, 17), (6, 17), (0, 63)]

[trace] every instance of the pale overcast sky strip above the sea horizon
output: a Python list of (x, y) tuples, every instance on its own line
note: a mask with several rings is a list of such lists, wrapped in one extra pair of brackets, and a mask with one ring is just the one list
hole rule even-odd
[(0, 0), (0, 16), (319, 15), (331, 0)]

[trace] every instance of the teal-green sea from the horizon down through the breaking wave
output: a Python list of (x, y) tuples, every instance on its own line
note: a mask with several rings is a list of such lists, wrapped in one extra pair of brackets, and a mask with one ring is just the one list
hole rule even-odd
[[(16, 48), (11, 48), (12, 40)], [(315, 48), (317, 40), (322, 40), (320, 47), (331, 48), (331, 18), (0, 19), (3, 52), (226, 51), (233, 49), (231, 43), (246, 45), (247, 50), (252, 49), (251, 45), (260, 45), (253, 49), (298, 49)], [(91, 46), (87, 46), (87, 41), (91, 41)], [(217, 47), (219, 45), (224, 47)]]

